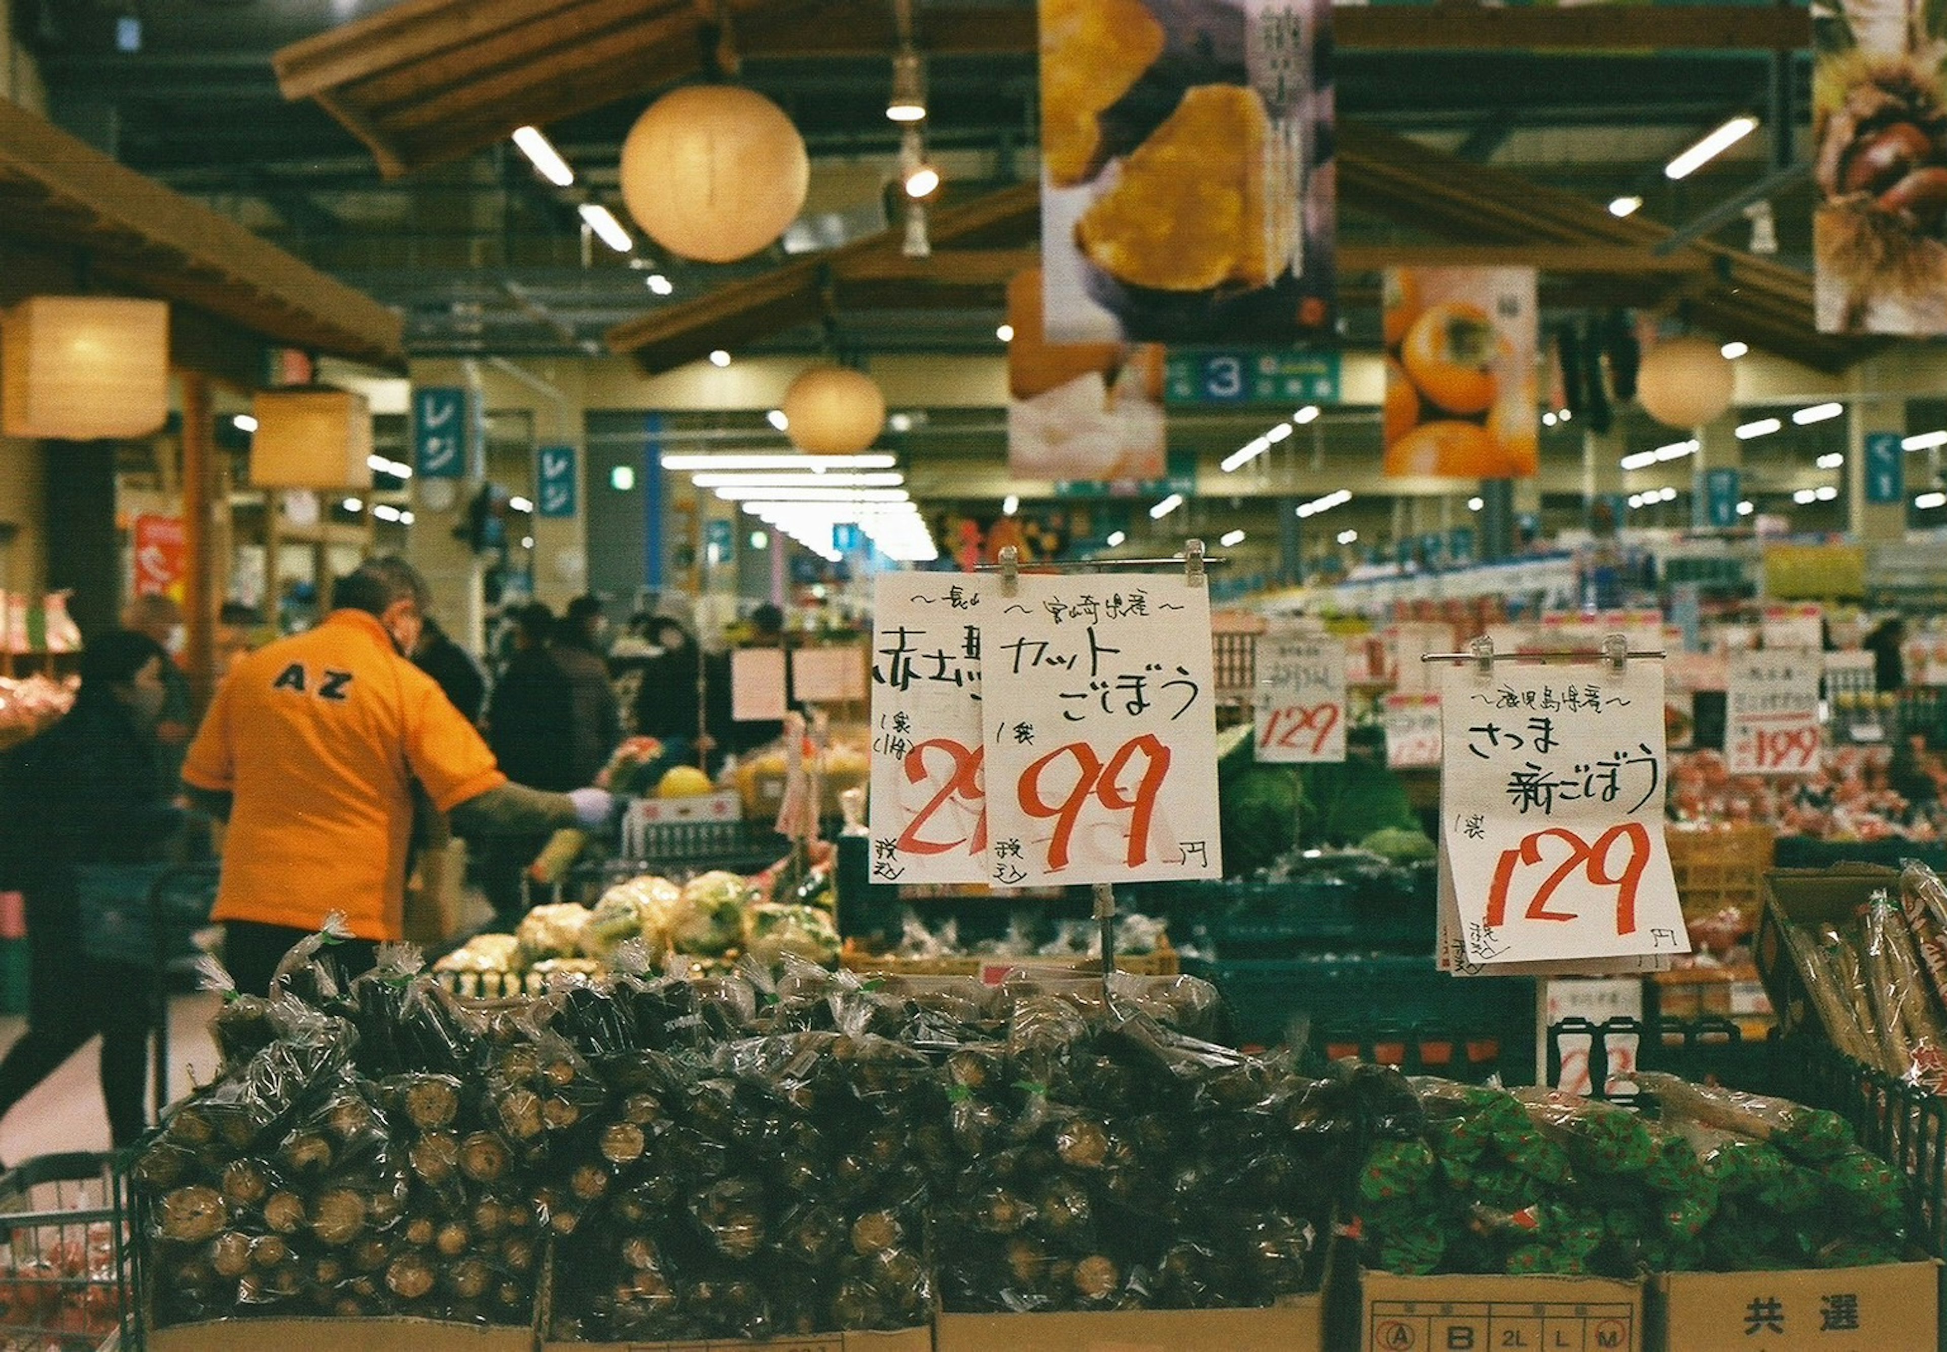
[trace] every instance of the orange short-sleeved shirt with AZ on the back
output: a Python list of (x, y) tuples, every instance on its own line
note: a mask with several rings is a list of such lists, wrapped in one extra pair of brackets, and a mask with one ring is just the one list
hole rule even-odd
[(405, 933), (411, 781), (442, 812), (506, 783), (487, 742), (360, 610), (238, 660), (183, 779), (232, 793), (214, 920)]

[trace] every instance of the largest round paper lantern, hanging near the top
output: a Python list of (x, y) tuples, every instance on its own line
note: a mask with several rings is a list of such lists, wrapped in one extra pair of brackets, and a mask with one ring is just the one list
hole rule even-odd
[(761, 94), (697, 84), (648, 105), (621, 142), (621, 199), (670, 253), (734, 263), (804, 210), (804, 136)]

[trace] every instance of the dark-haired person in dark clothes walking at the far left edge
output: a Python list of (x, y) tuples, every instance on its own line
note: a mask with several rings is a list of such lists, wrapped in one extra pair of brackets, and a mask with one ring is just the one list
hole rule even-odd
[(86, 953), (76, 865), (150, 863), (183, 824), (154, 740), (167, 664), (144, 633), (93, 637), (82, 651), (74, 707), (0, 766), (6, 869), (27, 900), (31, 964), (27, 1031), (0, 1060), (0, 1114), (99, 1033), (101, 1097), (117, 1147), (132, 1145), (146, 1126), (152, 976)]

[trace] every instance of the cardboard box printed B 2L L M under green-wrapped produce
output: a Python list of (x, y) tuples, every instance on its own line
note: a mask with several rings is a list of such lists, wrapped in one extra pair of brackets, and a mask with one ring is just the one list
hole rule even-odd
[(1359, 1329), (1361, 1352), (1643, 1352), (1643, 1284), (1363, 1272)]

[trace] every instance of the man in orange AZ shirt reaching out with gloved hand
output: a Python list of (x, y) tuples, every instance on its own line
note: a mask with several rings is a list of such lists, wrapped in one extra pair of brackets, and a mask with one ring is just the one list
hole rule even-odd
[(508, 783), (487, 742), (403, 653), (419, 643), (426, 584), (401, 559), (339, 579), (310, 633), (238, 660), (183, 764), (191, 801), (230, 822), (212, 920), (238, 990), (263, 995), (292, 943), (345, 912), (345, 974), (405, 933), (417, 779), (461, 834), (604, 828), (602, 789)]

